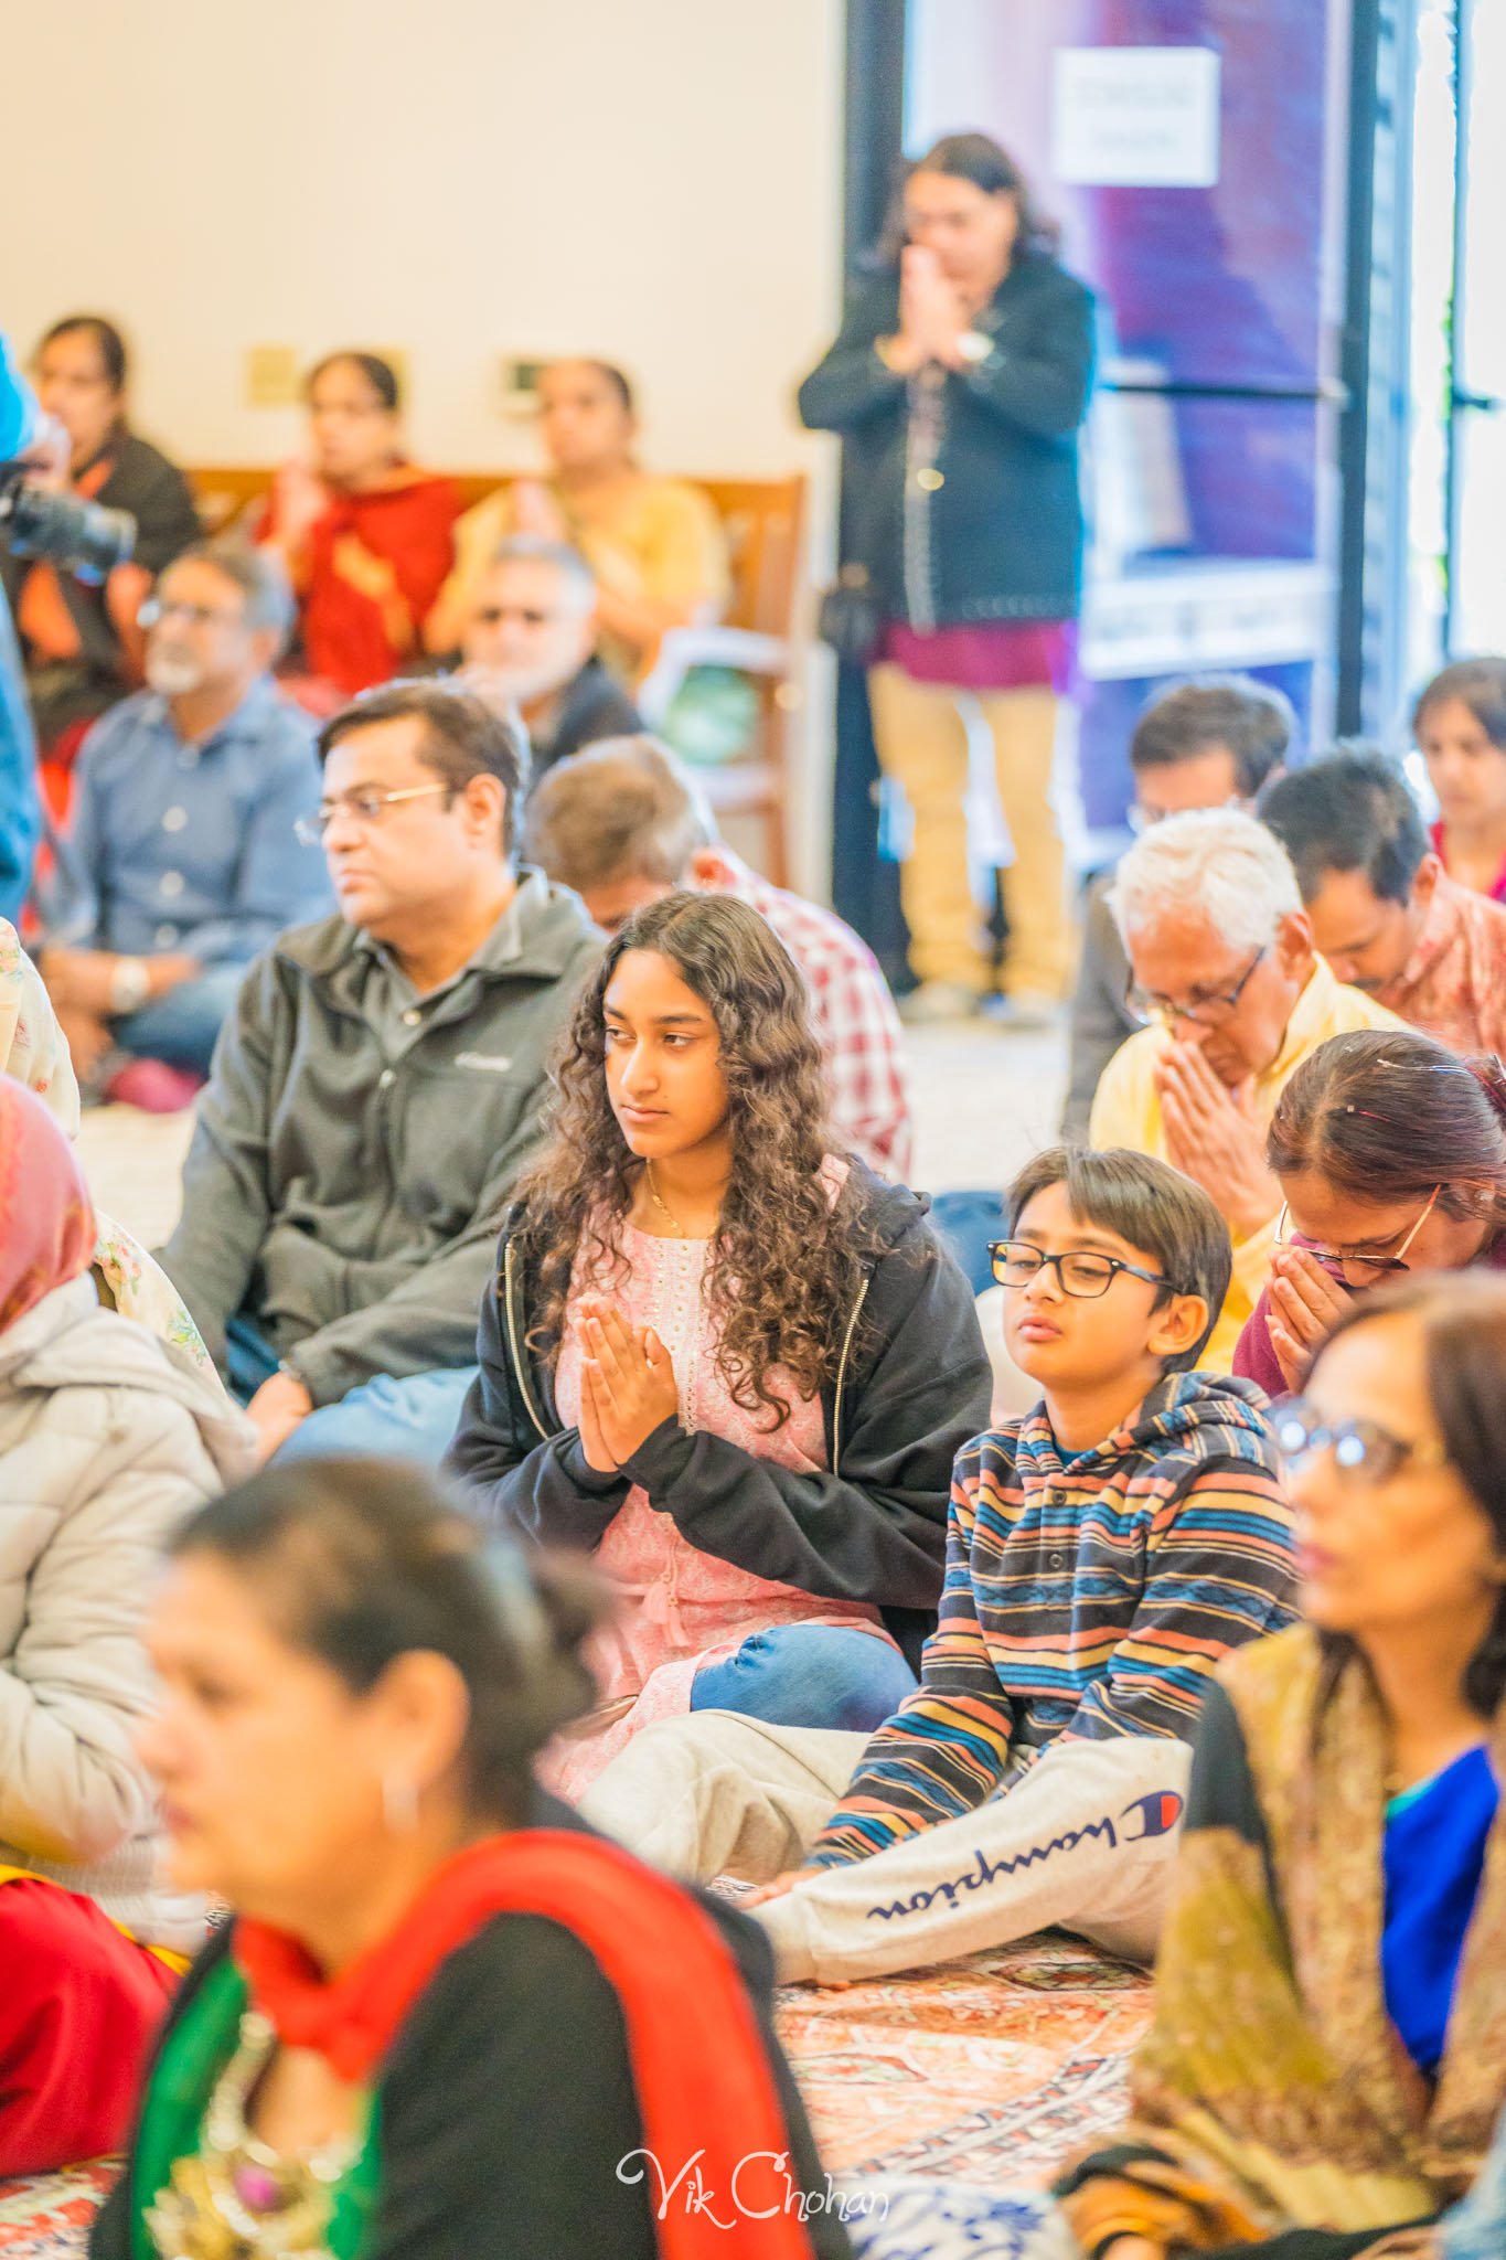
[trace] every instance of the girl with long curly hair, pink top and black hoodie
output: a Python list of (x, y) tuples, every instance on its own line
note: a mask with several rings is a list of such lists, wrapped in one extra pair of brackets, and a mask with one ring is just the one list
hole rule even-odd
[(628, 920), (555, 1080), (449, 1464), (619, 1589), (558, 1785), (693, 1709), (874, 1727), (989, 1419), (966, 1281), (921, 1198), (831, 1150), (802, 979), (734, 897)]

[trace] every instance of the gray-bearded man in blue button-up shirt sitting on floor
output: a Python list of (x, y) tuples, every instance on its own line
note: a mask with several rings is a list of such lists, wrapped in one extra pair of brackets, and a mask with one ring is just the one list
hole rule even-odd
[[(176, 558), (142, 608), (147, 689), (95, 723), (77, 764), (63, 915), (41, 970), (81, 1080), (183, 1103), (251, 958), (332, 909), (314, 723), (271, 664), (291, 626), (280, 563), (239, 542)], [(163, 1092), (158, 1094), (158, 1085)]]

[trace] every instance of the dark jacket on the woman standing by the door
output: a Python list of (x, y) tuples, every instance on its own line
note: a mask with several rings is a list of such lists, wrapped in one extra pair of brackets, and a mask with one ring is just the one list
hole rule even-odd
[(1084, 520), (1077, 429), (1093, 384), (1093, 294), (1052, 258), (1009, 269), (975, 328), (987, 359), (899, 377), (876, 339), (899, 330), (899, 273), (853, 298), (799, 389), (802, 420), (840, 432), (849, 560), (885, 619), (930, 631), (975, 619), (1075, 619)]

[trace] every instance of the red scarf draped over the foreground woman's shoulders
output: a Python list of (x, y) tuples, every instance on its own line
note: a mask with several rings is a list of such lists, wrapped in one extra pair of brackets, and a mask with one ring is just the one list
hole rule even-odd
[[(601, 1964), (628, 2027), (643, 2142), (668, 2176), (695, 2158), (707, 2188), (750, 2192), (734, 2228), (668, 2206), (657, 2224), (666, 2260), (811, 2260), (774, 2194), (781, 2183), (759, 2181), (752, 2163), (781, 2156), (790, 2138), (736, 1962), (686, 1892), (616, 1844), (553, 1828), (485, 1837), (447, 1860), (397, 1928), (330, 1982), (266, 1923), (235, 1926), (235, 1959), (278, 2036), (316, 2048), (354, 2081), (379, 2063), (440, 1962), (494, 1914), (542, 1914)], [(754, 2217), (754, 2188), (770, 2219)]]

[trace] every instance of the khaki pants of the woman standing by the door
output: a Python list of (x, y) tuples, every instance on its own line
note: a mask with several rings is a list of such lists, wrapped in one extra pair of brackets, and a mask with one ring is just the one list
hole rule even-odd
[[(982, 920), (966, 868), (966, 725), (957, 692), (914, 683), (903, 667), (869, 678), (878, 766), (910, 802), (914, 838), (899, 890), (910, 924), (910, 965), (921, 981), (993, 985)], [(1005, 990), (1061, 997), (1070, 970), (1066, 852), (1052, 809), (1057, 694), (1050, 689), (975, 692), (993, 737), (998, 798), (1014, 841), (1005, 872), (1009, 958)]]

